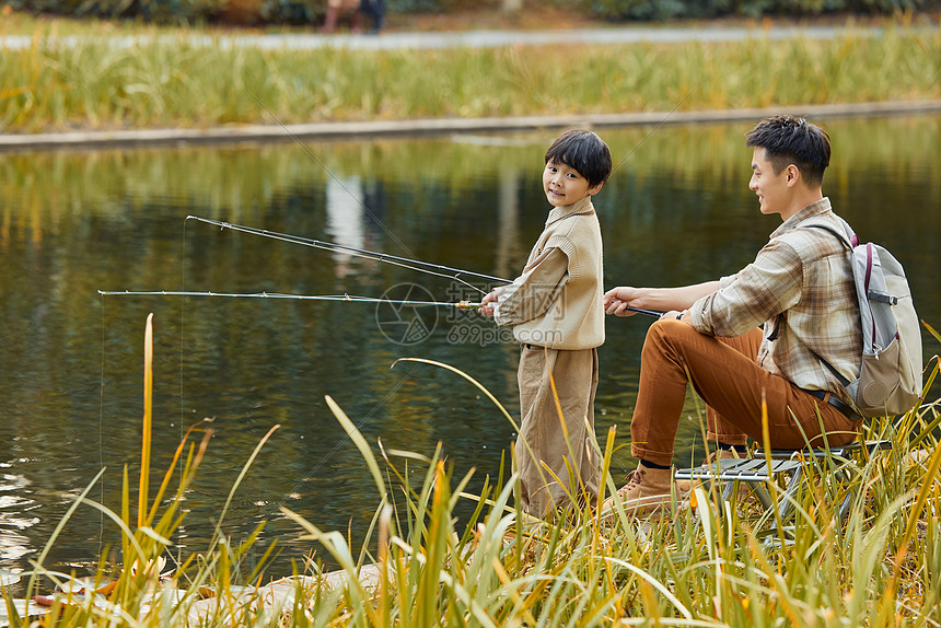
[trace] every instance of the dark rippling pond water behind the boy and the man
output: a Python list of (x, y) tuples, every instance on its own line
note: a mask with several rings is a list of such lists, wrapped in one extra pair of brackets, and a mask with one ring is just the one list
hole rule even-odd
[[(779, 219), (762, 217), (747, 189), (743, 133), (751, 126), (603, 130), (617, 164), (595, 203), (607, 287), (705, 281), (753, 259)], [(834, 141), (824, 191), (863, 239), (896, 254), (919, 315), (941, 325), (941, 117), (824, 126)], [(276, 425), (222, 530), (240, 540), (267, 522), (257, 547), (260, 554), (278, 539), (275, 574), (320, 550), (299, 539), (282, 505), (362, 540), (377, 493), (327, 395), (376, 452), (379, 440), (423, 455), (441, 443), (455, 475), (476, 469), (472, 490), (496, 475), (514, 433), (492, 403), (442, 369), (391, 368), (405, 357), (453, 365), (515, 418), (519, 348), (476, 313), (97, 291), (477, 299), (445, 278), (185, 218), (512, 278), (545, 221), (542, 155), (556, 135), (306, 143), (306, 151), (284, 142), (0, 154), (0, 567), (27, 568), (103, 467), (90, 497), (119, 511), (123, 468), (131, 478), (139, 469), (149, 313), (155, 481), (187, 428), (213, 430), (174, 537), (185, 554), (207, 546), (235, 477)], [(616, 425), (618, 443), (627, 441), (649, 324), (643, 316), (607, 321), (602, 439)], [(926, 334), (926, 360), (938, 351)], [(699, 433), (690, 397), (678, 463), (699, 455)], [(614, 473), (634, 464), (621, 449)], [(420, 474), (415, 467), (408, 473)], [(82, 570), (118, 538), (97, 511), (81, 507), (47, 562)]]

